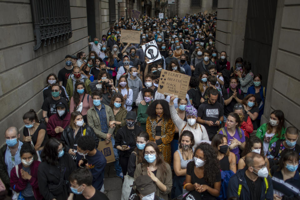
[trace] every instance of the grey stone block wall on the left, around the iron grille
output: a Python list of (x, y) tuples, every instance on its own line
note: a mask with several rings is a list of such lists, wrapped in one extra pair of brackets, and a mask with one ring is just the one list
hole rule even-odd
[[(89, 0), (88, 0), (89, 1)], [(34, 109), (42, 116), (43, 88), (50, 73), (58, 74), (67, 54), (88, 53), (87, 1), (70, 0), (72, 37), (33, 50), (36, 44), (30, 0), (0, 0), (0, 127), (19, 128), (22, 138), (22, 116)], [(96, 34), (106, 33), (109, 0), (95, 0)], [(118, 4), (116, 22), (118, 22)], [(95, 26), (95, 23), (94, 23)], [(0, 144), (4, 143), (0, 137)]]

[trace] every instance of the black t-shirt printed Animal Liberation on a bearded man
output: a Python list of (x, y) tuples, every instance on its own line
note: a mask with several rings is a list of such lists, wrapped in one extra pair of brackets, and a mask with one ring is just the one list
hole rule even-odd
[[(200, 117), (202, 120), (212, 121), (213, 123), (218, 121), (223, 114), (224, 109), (221, 103), (216, 102), (212, 105), (209, 104), (208, 101), (201, 103), (197, 113), (198, 117)], [(218, 126), (208, 126), (207, 124), (204, 124), (204, 127), (207, 131), (209, 139), (211, 139), (219, 129)]]

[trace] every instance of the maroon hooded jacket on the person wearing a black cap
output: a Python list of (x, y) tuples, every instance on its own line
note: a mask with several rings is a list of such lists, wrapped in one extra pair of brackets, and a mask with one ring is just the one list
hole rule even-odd
[(65, 116), (65, 118), (63, 120), (58, 118), (57, 113), (52, 115), (49, 118), (48, 123), (47, 123), (47, 134), (52, 138), (57, 138), (58, 140), (60, 140), (60, 137), (61, 137), (63, 132), (55, 133), (54, 129), (57, 126), (60, 126), (63, 129), (65, 129), (70, 124), (70, 119), (71, 119), (71, 114), (70, 113), (67, 113), (67, 115)]

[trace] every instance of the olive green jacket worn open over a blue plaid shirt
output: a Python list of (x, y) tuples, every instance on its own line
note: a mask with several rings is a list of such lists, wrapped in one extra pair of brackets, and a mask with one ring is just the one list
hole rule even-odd
[[(103, 104), (103, 105), (105, 106), (106, 121), (107, 121), (107, 126), (108, 126), (109, 121), (115, 121), (115, 117), (113, 115), (113, 110), (109, 106), (107, 106), (105, 104)], [(94, 132), (97, 135), (97, 137), (99, 139), (102, 138), (105, 140), (107, 133), (103, 133), (101, 131), (100, 118), (99, 118), (97, 111), (95, 110), (95, 106), (93, 106), (92, 108), (90, 108), (88, 110), (87, 119), (88, 119), (88, 125), (94, 129)], [(108, 133), (112, 134), (113, 138), (115, 138), (113, 135), (114, 129), (115, 128), (110, 128), (108, 126)]]

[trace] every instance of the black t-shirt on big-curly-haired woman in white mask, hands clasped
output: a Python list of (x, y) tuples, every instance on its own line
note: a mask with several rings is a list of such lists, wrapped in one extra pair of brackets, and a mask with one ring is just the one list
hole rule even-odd
[[(194, 161), (191, 161), (189, 163), (187, 163), (187, 175), (190, 175), (191, 176), (191, 182), (192, 184), (194, 183), (198, 183), (200, 185), (208, 185), (208, 183), (205, 181), (204, 177), (203, 178), (198, 178), (195, 174), (195, 171), (194, 171), (194, 167), (191, 167), (192, 163)], [(219, 182), (221, 181), (221, 172), (220, 170), (218, 170), (216, 172), (216, 182)], [(212, 187), (213, 188), (213, 185), (208, 185), (209, 187)], [(207, 199), (207, 200), (215, 200), (216, 197), (212, 196), (209, 192), (205, 191), (205, 192), (202, 192), (202, 199)]]

